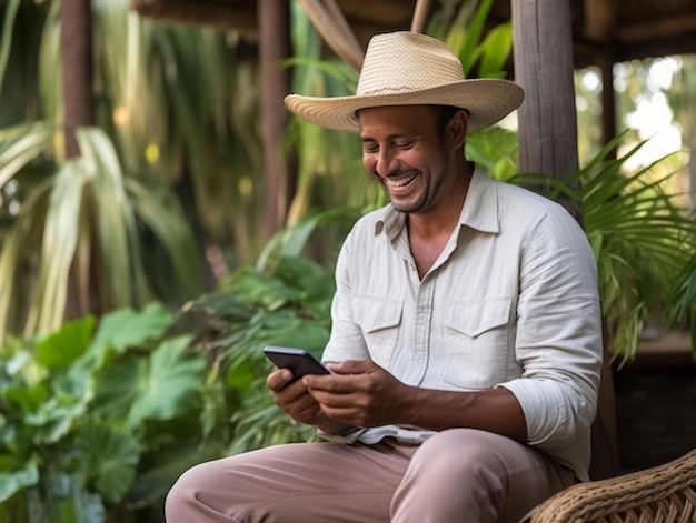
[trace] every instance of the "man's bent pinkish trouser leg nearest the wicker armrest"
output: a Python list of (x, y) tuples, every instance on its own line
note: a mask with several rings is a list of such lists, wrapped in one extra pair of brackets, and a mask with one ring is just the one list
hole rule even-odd
[(443, 431), (414, 454), (394, 497), (394, 522), (517, 522), (573, 473), (541, 452), (471, 429)]

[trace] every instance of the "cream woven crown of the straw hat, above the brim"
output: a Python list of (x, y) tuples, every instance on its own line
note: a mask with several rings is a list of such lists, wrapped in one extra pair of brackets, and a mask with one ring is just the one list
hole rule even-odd
[(426, 34), (399, 31), (370, 40), (356, 93), (422, 91), (464, 79), (461, 62), (447, 44)]

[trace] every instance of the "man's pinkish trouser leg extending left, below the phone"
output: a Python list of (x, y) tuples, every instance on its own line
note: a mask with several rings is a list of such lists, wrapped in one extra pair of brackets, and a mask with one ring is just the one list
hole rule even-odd
[(412, 447), (296, 443), (197, 465), (167, 497), (177, 522), (388, 522)]

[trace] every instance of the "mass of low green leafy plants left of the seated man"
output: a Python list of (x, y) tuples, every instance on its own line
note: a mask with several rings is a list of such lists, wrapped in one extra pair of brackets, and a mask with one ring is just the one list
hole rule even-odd
[(318, 228), (345, 235), (356, 218), (334, 210), (280, 231), (256, 268), (240, 268), (176, 315), (151, 302), (8, 338), (0, 522), (159, 521), (163, 495), (193, 464), (315, 439), (274, 403), (262, 348), (319, 355), (332, 271), (299, 253)]

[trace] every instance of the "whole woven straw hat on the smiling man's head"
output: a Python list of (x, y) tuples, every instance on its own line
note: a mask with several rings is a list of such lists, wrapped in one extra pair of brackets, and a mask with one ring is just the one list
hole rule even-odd
[(464, 77), (461, 62), (441, 41), (399, 31), (372, 37), (355, 97), (289, 94), (286, 107), (298, 117), (339, 131), (358, 132), (356, 111), (385, 105), (454, 105), (469, 112), (468, 129), (491, 125), (524, 99), (514, 82)]

